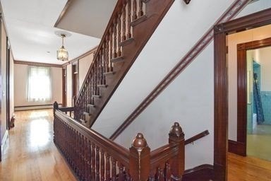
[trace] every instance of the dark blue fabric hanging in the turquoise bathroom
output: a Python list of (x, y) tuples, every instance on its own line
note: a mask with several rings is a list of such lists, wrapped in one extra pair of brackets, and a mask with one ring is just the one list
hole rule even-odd
[(256, 107), (256, 114), (257, 114), (257, 122), (258, 124), (262, 124), (265, 121), (265, 117), (263, 116), (263, 104), (260, 98), (260, 88), (258, 85), (258, 76), (254, 73), (253, 76), (253, 97), (254, 97), (254, 104)]

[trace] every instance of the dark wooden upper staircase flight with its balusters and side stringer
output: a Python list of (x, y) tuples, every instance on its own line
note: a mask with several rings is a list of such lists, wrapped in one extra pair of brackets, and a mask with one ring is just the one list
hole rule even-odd
[(76, 99), (75, 119), (92, 126), (173, 2), (117, 2)]

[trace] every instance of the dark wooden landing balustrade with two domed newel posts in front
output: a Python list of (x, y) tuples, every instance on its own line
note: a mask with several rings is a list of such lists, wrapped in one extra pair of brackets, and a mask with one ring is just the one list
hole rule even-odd
[(184, 134), (176, 122), (169, 144), (150, 151), (143, 134), (128, 150), (54, 108), (54, 143), (78, 180), (181, 180)]

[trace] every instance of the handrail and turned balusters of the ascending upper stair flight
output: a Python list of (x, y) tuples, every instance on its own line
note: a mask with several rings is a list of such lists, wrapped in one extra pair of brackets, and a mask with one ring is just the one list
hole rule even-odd
[(95, 106), (94, 99), (100, 96), (100, 87), (106, 86), (104, 74), (114, 74), (112, 60), (121, 57), (121, 45), (131, 40), (133, 36), (131, 21), (144, 16), (143, 2), (145, 1), (117, 1), (83, 86), (76, 98), (75, 107), (78, 107), (78, 112), (76, 112), (75, 119), (78, 121), (85, 119), (85, 115), (89, 115), (90, 107)]

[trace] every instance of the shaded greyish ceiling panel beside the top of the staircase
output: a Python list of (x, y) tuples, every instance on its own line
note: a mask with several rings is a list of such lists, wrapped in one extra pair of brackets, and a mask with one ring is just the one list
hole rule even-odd
[(116, 0), (71, 1), (72, 8), (67, 9), (56, 27), (102, 38), (115, 5)]

